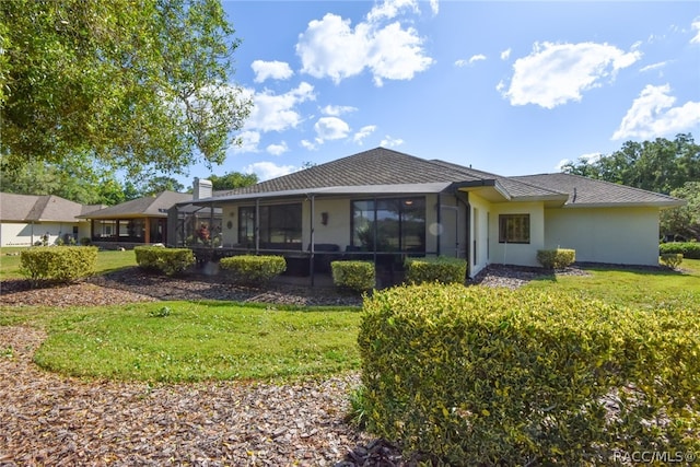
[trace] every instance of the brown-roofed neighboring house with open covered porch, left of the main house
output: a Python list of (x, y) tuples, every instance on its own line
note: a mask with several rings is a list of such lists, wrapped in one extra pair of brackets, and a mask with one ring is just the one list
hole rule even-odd
[[(131, 247), (137, 244), (167, 243), (167, 210), (190, 201), (191, 195), (163, 191), (80, 215), (88, 221), (88, 236), (103, 246)], [(118, 245), (117, 245), (118, 244)]]

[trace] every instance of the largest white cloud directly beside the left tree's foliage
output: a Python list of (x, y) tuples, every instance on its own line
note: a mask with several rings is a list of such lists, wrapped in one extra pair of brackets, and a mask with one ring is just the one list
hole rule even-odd
[(294, 128), (302, 120), (295, 106), (315, 98), (314, 86), (305, 82), (285, 94), (277, 95), (271, 91), (256, 93), (253, 96), (254, 106), (245, 128), (259, 131), (283, 131)]

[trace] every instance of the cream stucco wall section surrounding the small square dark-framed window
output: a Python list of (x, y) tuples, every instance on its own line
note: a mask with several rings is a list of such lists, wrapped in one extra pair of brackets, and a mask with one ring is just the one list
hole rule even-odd
[[(544, 205), (541, 202), (503, 202), (491, 205), (490, 211), (490, 262), (540, 266), (537, 262), (537, 250), (545, 246)], [(499, 243), (499, 214), (529, 214), (529, 243)]]

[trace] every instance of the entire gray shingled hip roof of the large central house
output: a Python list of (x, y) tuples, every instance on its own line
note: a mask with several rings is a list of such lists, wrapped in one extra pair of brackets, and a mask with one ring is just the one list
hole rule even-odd
[[(339, 195), (396, 191), (439, 192), (440, 184), (455, 187), (494, 187), (505, 200), (550, 200), (567, 207), (584, 206), (681, 206), (682, 201), (651, 191), (568, 174), (506, 177), (440, 160), (424, 160), (385, 148), (316, 165), (250, 187), (218, 191), (200, 201), (266, 198), (304, 194)], [(380, 187), (383, 187), (380, 189)], [(400, 192), (400, 190), (396, 191)], [(575, 192), (575, 196), (574, 196)]]

